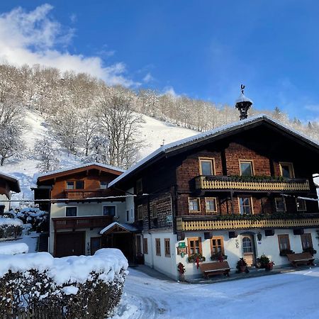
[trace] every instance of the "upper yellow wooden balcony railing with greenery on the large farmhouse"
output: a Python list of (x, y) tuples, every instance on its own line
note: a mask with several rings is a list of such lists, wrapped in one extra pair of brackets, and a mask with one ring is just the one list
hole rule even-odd
[(253, 179), (242, 181), (235, 177), (198, 176), (196, 189), (206, 190), (247, 190), (247, 191), (309, 191), (308, 179)]

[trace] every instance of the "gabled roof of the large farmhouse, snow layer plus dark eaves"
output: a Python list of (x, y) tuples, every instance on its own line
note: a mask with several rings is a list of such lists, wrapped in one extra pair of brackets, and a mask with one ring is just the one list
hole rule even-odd
[(274, 120), (274, 118), (270, 118), (265, 114), (260, 114), (258, 116), (252, 116), (243, 121), (238, 121), (235, 123), (231, 123), (228, 125), (220, 126), (220, 128), (215, 128), (213, 130), (208, 130), (207, 132), (200, 133), (198, 135), (191, 136), (189, 138), (184, 138), (183, 140), (177, 140), (176, 142), (169, 143), (162, 147), (159, 147), (155, 152), (152, 152), (147, 157), (143, 158), (137, 164), (133, 165), (128, 169), (125, 173), (121, 174), (121, 176), (117, 177), (108, 186), (113, 186), (118, 183), (118, 181), (122, 181), (126, 177), (130, 176), (134, 172), (136, 172), (143, 165), (155, 162), (157, 159), (162, 158), (164, 156), (168, 156), (169, 153), (175, 152), (177, 150), (181, 150), (183, 148), (189, 147), (191, 145), (196, 145), (198, 142), (205, 142), (206, 140), (213, 141), (215, 138), (223, 137), (227, 133), (235, 133), (237, 130), (242, 128), (248, 128), (250, 126), (254, 126), (258, 123), (268, 123), (272, 125), (274, 128), (277, 128), (284, 133), (291, 135), (291, 137), (296, 138), (298, 140), (302, 140), (309, 147), (314, 147), (319, 152), (319, 144), (315, 140), (308, 138), (306, 135), (299, 133), (289, 126), (280, 123), (279, 121)]

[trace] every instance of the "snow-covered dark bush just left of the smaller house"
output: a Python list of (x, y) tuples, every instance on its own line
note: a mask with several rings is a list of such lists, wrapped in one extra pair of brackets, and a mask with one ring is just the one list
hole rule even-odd
[(23, 221), (23, 224), (31, 224), (32, 230), (47, 231), (48, 230), (48, 213), (41, 211), (39, 208), (16, 208), (16, 218)]

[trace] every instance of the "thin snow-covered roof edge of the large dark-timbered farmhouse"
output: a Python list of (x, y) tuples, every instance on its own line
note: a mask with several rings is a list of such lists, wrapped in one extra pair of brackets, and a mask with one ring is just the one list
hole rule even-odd
[(136, 169), (141, 167), (143, 164), (146, 164), (147, 162), (150, 162), (151, 159), (154, 159), (155, 157), (161, 155), (161, 154), (167, 154), (168, 152), (172, 152), (174, 150), (177, 150), (181, 147), (186, 147), (188, 145), (196, 144), (197, 142), (207, 140), (210, 138), (217, 137), (219, 135), (223, 135), (223, 133), (226, 133), (231, 130), (236, 130), (237, 128), (241, 128), (247, 125), (251, 125), (253, 123), (257, 123), (259, 121), (267, 121), (268, 123), (272, 123), (276, 125), (277, 127), (288, 131), (292, 135), (296, 135), (297, 138), (303, 138), (303, 140), (308, 141), (310, 144), (313, 144), (313, 146), (319, 148), (319, 144), (317, 141), (312, 140), (308, 138), (308, 136), (303, 135), (302, 133), (299, 133), (296, 130), (293, 130), (292, 128), (289, 128), (289, 126), (284, 125), (283, 123), (280, 123), (279, 121), (276, 121), (274, 118), (271, 118), (267, 116), (266, 114), (259, 114), (257, 116), (251, 116), (250, 118), (246, 118), (245, 120), (238, 121), (235, 123), (230, 123), (228, 125), (220, 126), (219, 128), (214, 128), (213, 130), (208, 130), (207, 132), (200, 133), (194, 136), (191, 136), (189, 138), (184, 138), (182, 140), (177, 140), (176, 142), (169, 143), (167, 145), (163, 145), (162, 147), (159, 147), (157, 150), (152, 152), (147, 157), (140, 160), (140, 162), (134, 164), (132, 167), (130, 167), (128, 170), (126, 170), (121, 176), (117, 177), (116, 179), (113, 179), (108, 186), (113, 186), (118, 181), (121, 181), (125, 177), (127, 177), (129, 174), (132, 174)]

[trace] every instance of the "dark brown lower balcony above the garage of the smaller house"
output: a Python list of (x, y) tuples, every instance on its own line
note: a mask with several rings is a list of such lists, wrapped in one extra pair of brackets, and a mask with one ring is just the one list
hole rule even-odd
[(52, 218), (55, 230), (77, 228), (104, 228), (113, 223), (112, 216), (55, 217)]

